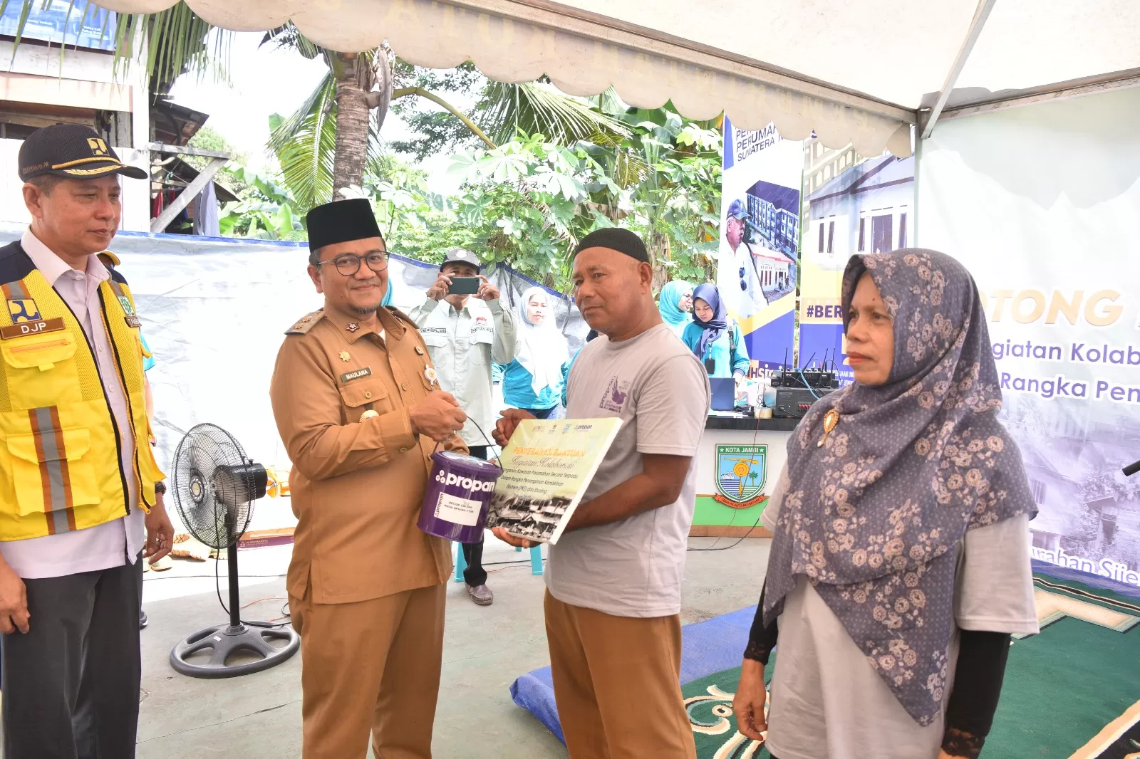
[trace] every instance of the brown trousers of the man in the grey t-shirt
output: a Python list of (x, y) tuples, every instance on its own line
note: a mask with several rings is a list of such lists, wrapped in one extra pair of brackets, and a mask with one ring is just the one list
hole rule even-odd
[(611, 617), (547, 591), (554, 701), (572, 759), (695, 759), (681, 619)]

